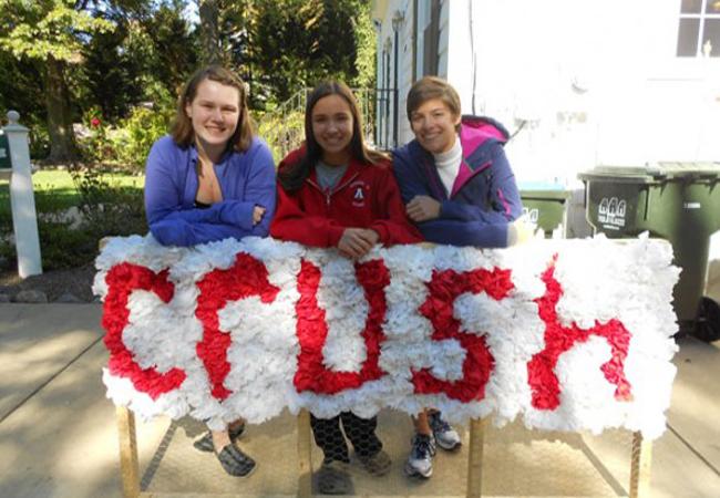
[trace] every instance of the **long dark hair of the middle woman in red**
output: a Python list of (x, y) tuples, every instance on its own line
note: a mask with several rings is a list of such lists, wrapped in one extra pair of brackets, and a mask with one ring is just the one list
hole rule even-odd
[(362, 113), (352, 91), (342, 82), (325, 81), (318, 84), (308, 96), (305, 106), (305, 156), (296, 164), (287, 165), (278, 173), (278, 180), (287, 191), (300, 188), (310, 172), (322, 157), (322, 147), (312, 133), (312, 110), (320, 98), (338, 95), (348, 103), (352, 114), (352, 138), (350, 139), (350, 157), (364, 164), (377, 164), (388, 156), (379, 151), (369, 148), (362, 135)]

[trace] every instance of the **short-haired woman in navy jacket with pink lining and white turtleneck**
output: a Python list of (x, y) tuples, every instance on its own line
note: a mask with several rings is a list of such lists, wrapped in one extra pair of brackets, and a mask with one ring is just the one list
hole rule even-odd
[[(410, 89), (408, 118), (415, 139), (393, 152), (393, 173), (408, 216), (425, 240), (503, 248), (529, 237), (529, 229), (514, 221), (523, 205), (503, 151), (508, 135), (502, 125), (461, 117), (457, 92), (434, 76)], [(414, 424), (405, 473), (428, 478), (435, 446), (452, 450), (461, 439), (440, 412), (425, 411)]]

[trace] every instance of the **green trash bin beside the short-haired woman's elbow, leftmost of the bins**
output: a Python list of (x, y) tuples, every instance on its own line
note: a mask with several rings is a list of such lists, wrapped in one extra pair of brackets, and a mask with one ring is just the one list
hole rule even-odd
[(560, 185), (545, 183), (521, 183), (518, 188), (523, 214), (545, 232), (545, 238), (552, 238), (559, 226), (565, 237), (567, 199), (572, 193)]

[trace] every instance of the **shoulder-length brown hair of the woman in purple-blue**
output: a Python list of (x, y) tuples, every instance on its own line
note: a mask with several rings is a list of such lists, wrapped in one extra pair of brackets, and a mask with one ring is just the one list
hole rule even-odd
[(185, 107), (195, 100), (197, 94), (197, 87), (205, 80), (216, 81), (223, 85), (233, 86), (239, 92), (239, 102), (238, 108), (240, 110), (240, 116), (237, 122), (237, 127), (235, 133), (227, 143), (227, 148), (234, 148), (237, 152), (247, 151), (250, 147), (254, 135), (254, 125), (253, 118), (247, 111), (247, 94), (245, 92), (245, 83), (243, 80), (232, 71), (226, 70), (219, 65), (208, 65), (193, 74), (185, 87), (183, 93), (177, 100), (177, 111), (175, 113), (175, 120), (173, 121), (173, 126), (171, 128), (171, 134), (173, 139), (181, 147), (188, 147), (195, 139), (195, 133), (193, 132), (193, 122), (187, 116)]

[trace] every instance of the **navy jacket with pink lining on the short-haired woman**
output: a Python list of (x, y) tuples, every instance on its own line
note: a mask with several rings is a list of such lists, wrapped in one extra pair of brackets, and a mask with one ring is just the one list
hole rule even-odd
[(440, 216), (418, 228), (430, 242), (502, 248), (507, 227), (523, 205), (503, 145), (507, 132), (487, 117), (463, 116), (460, 129), (462, 164), (448, 191), (431, 153), (416, 139), (393, 151), (393, 172), (405, 204), (415, 196), (440, 201)]

